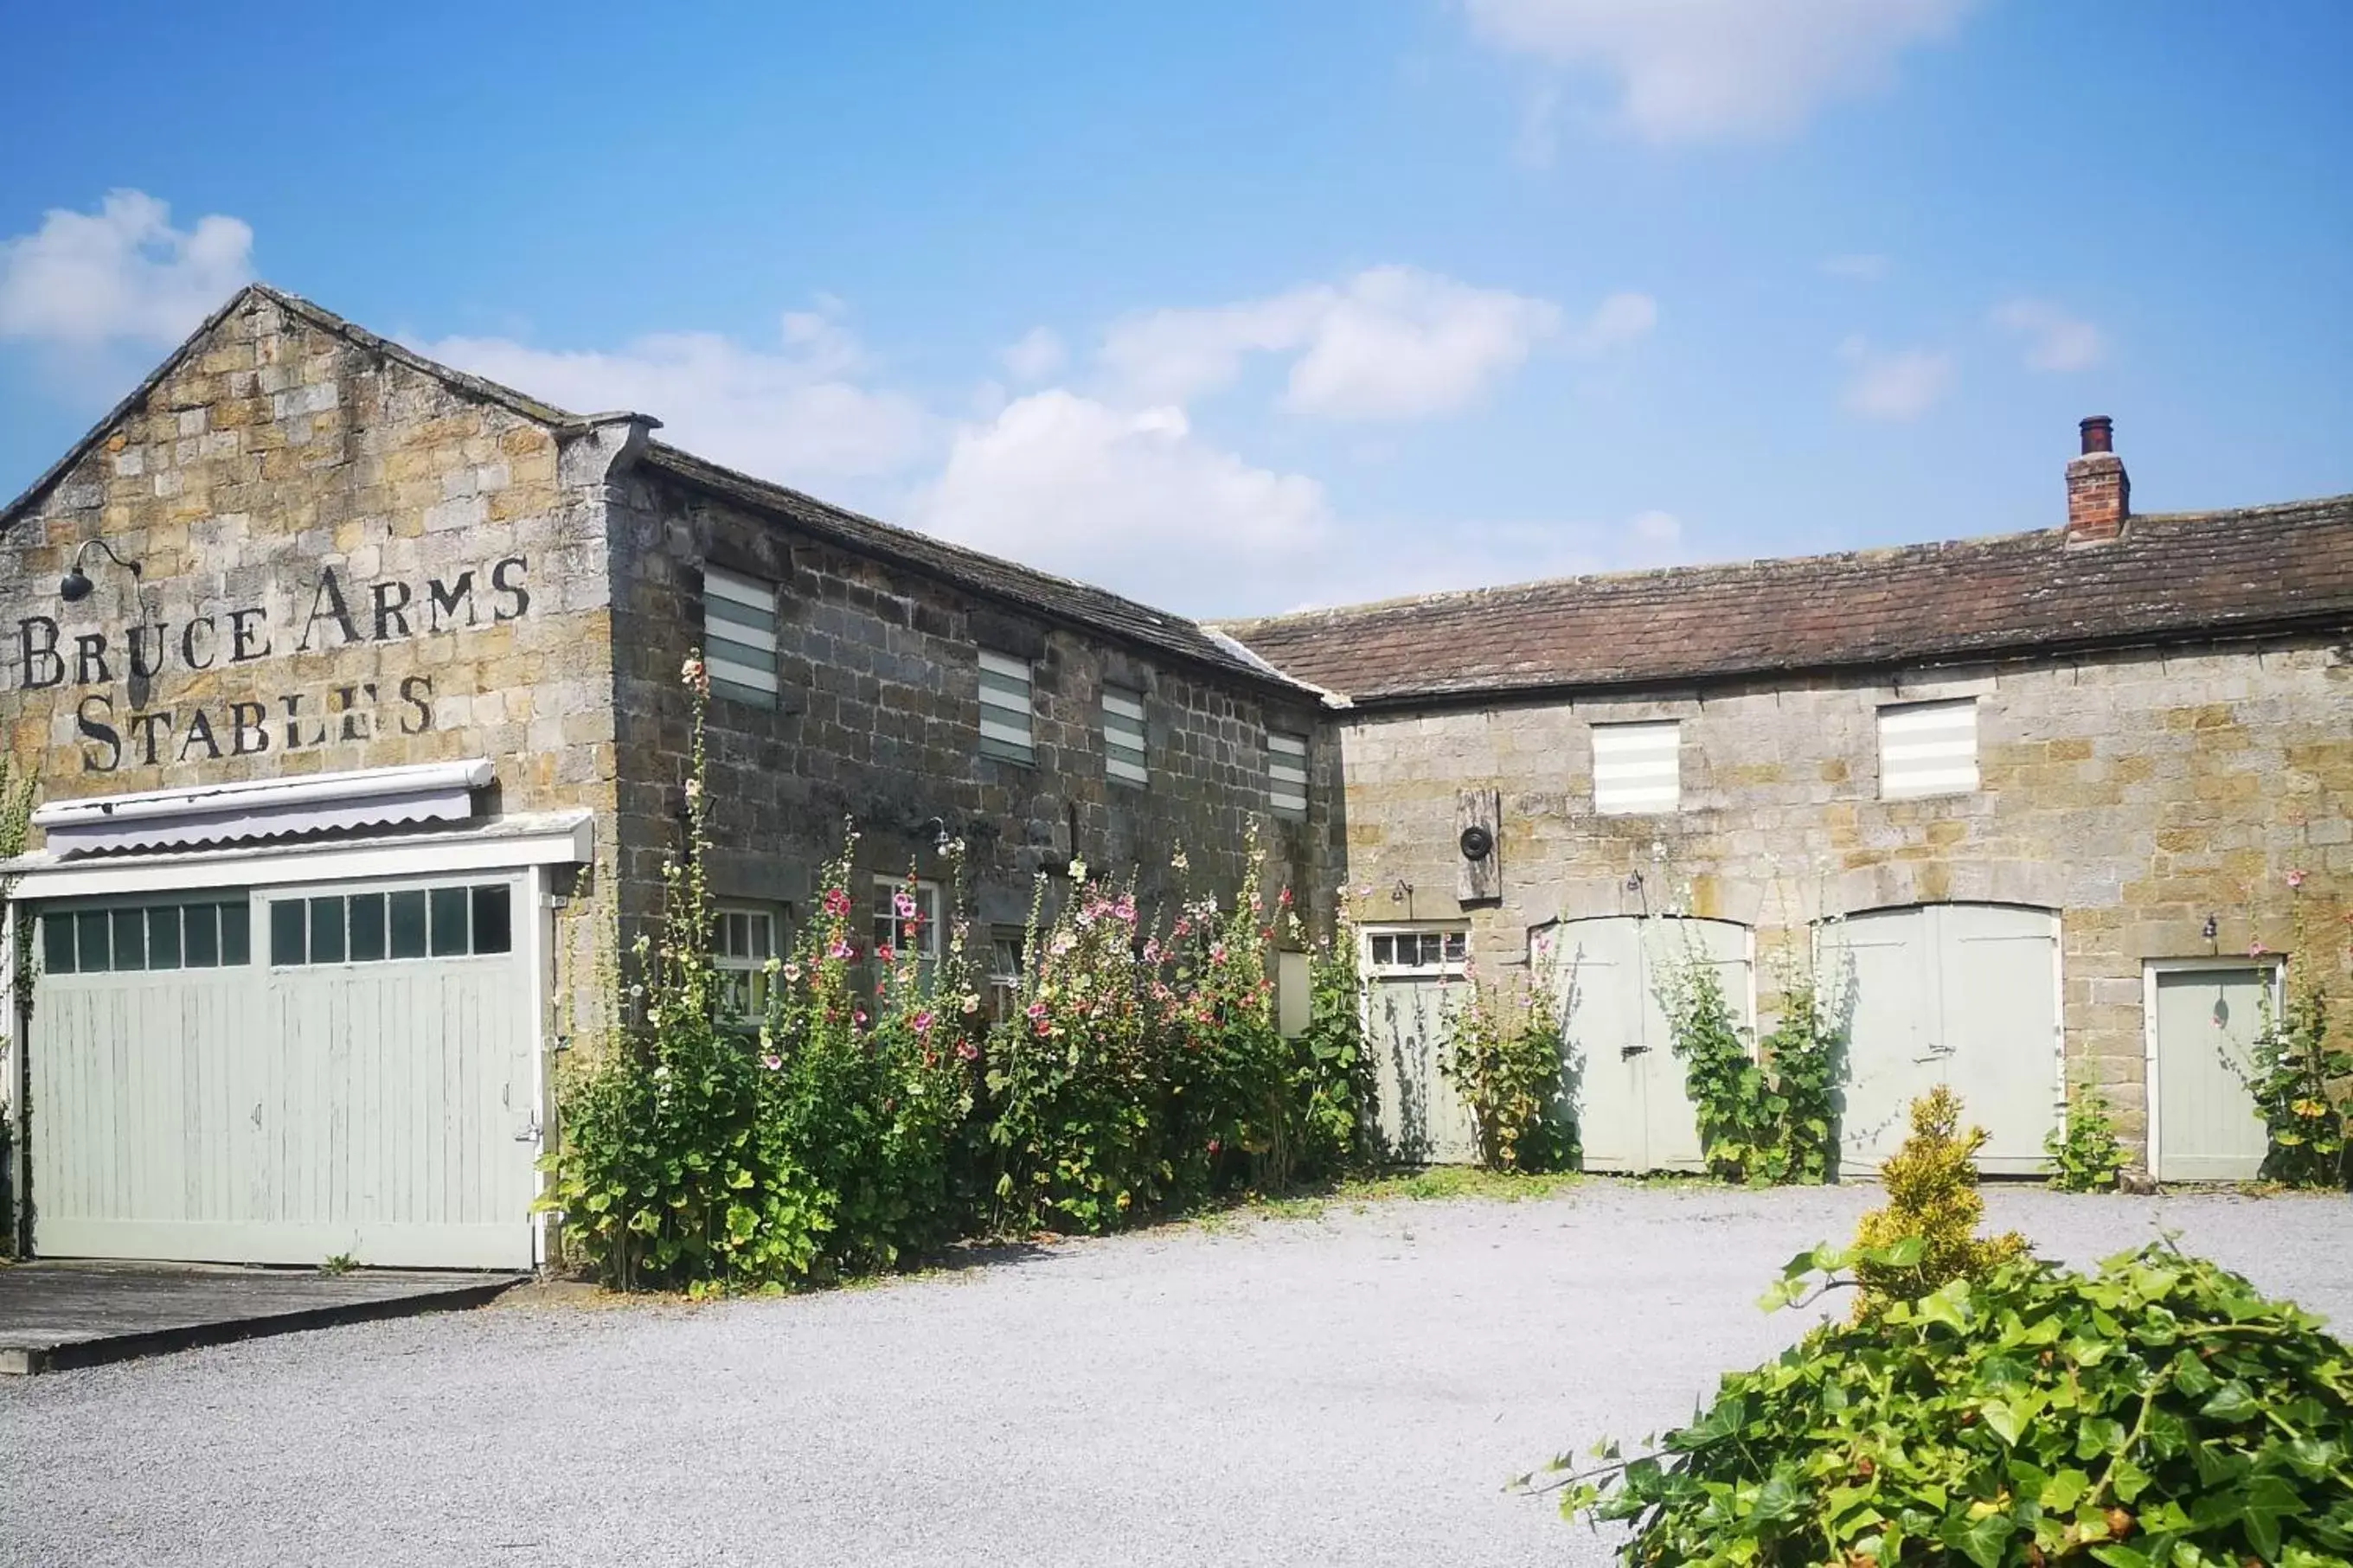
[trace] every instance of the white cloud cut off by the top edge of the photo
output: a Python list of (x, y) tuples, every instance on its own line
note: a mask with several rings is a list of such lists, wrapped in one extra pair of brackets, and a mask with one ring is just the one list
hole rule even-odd
[(1793, 129), (1885, 87), (1897, 56), (1948, 35), (1974, 0), (1464, 0), (1489, 45), (1617, 85), (1649, 141)]

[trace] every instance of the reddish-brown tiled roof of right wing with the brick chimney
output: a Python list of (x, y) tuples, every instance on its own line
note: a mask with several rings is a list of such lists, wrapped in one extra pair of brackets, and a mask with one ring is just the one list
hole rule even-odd
[(2353, 496), (1224, 623), (1353, 703), (2353, 628)]

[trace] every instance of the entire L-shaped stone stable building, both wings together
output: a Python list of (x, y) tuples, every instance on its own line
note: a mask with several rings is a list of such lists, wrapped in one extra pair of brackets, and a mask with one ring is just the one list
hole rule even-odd
[(1040, 875), (1231, 889), (1257, 825), (1315, 917), (1355, 884), (1428, 1159), (1473, 966), (1555, 978), (1588, 1164), (1654, 1168), (1697, 1161), (1661, 961), (1755, 1018), (1817, 954), (1852, 1166), (1948, 1079), (2033, 1168), (2075, 1072), (2238, 1175), (2217, 1046), (2353, 889), (2353, 498), (2132, 515), (2106, 421), (2040, 534), (1224, 630), (654, 428), (252, 287), (0, 508), (19, 1246), (541, 1260), (548, 1086), (687, 849), (692, 654), (741, 999), (847, 820), (875, 940), (936, 940), (887, 891), (944, 912), (960, 839), (1000, 966)]

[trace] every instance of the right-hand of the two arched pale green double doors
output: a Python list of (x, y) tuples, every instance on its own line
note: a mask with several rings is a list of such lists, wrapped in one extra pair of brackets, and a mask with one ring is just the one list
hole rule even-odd
[(1824, 929), (1852, 1020), (1840, 1166), (1875, 1171), (1915, 1095), (1948, 1084), (1988, 1138), (1979, 1168), (2031, 1175), (2059, 1119), (2059, 917), (1991, 903), (1864, 910)]

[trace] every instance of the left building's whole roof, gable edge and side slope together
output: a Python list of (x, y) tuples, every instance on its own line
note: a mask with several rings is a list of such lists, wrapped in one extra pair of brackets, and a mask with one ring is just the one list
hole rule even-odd
[[(280, 310), (320, 331), (334, 334), (369, 355), (376, 355), (379, 360), (405, 364), (412, 371), (433, 376), (445, 386), (454, 386), (461, 393), (494, 402), (558, 433), (586, 430), (591, 425), (621, 418), (619, 414), (569, 414), (555, 404), (539, 402), (527, 393), (499, 386), (496, 381), (485, 381), (482, 376), (471, 376), (461, 369), (440, 364), (438, 360), (428, 360), (409, 348), (402, 348), (400, 343), (393, 343), (391, 339), (379, 339), (365, 327), (355, 327), (353, 322), (346, 322), (332, 310), (322, 310), (296, 294), (285, 294), (282, 289), (254, 282), (238, 289), (228, 303), (205, 317), (205, 322), (191, 331), (188, 339), (146, 376), (146, 381), (108, 409), (106, 416), (66, 451), (66, 456), (33, 480), (21, 496), (0, 508), (0, 529), (9, 527), (21, 512), (31, 510), (31, 505), (40, 501), (49, 487), (73, 473), (75, 463), (89, 456), (89, 451), (106, 440), (108, 430), (146, 402), (146, 397), (162, 386), (172, 371), (188, 360), (188, 355), (195, 353), (214, 327), (252, 299), (266, 299)], [(647, 423), (659, 425), (659, 421)], [(979, 550), (951, 545), (932, 538), (929, 534), (915, 534), (913, 529), (899, 529), (887, 522), (875, 522), (873, 517), (861, 517), (838, 505), (816, 501), (814, 496), (805, 496), (798, 489), (755, 480), (746, 473), (722, 468), (664, 442), (649, 442), (645, 461), (689, 484), (722, 494), (807, 534), (816, 534), (819, 538), (831, 538), (849, 550), (925, 571), (955, 583), (958, 588), (1047, 616), (1049, 621), (1104, 632), (1158, 654), (1169, 654), (1186, 663), (1205, 665), (1226, 677), (1240, 677), (1261, 686), (1280, 686), (1304, 701), (1322, 696), (1320, 691), (1301, 686), (1289, 675), (1275, 670), (1249, 649), (1235, 644), (1231, 637), (1205, 630), (1184, 616), (1136, 604), (1134, 599), (1125, 599), (1101, 588), (1089, 588), (1087, 583), (1073, 583), (1047, 571), (1033, 571)]]

